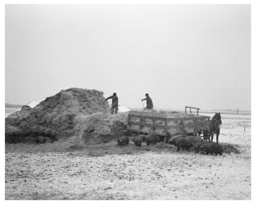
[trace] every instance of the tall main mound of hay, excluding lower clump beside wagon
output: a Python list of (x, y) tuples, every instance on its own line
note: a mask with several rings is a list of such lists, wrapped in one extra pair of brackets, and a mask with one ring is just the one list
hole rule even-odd
[(109, 112), (104, 100), (102, 91), (70, 88), (47, 97), (34, 108), (23, 106), (6, 118), (6, 142), (22, 142), (31, 135), (53, 140), (71, 137), (79, 117)]

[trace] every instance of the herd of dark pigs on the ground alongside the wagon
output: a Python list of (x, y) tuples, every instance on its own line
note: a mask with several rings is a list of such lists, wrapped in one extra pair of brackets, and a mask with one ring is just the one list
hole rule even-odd
[[(118, 140), (118, 145), (124, 146), (128, 145), (129, 143), (129, 137), (122, 136)], [(145, 142), (146, 145), (154, 145), (155, 143), (160, 142), (158, 135), (151, 133), (146, 136), (134, 136), (132, 138), (132, 141), (134, 142), (135, 146), (142, 146), (142, 143)], [(180, 151), (180, 149), (190, 151), (190, 149), (193, 149), (195, 153), (202, 153), (202, 154), (211, 154), (217, 156), (220, 154), (222, 156), (223, 151), (225, 150), (222, 145), (215, 142), (206, 142), (200, 137), (196, 136), (188, 136), (188, 135), (176, 135), (169, 140), (170, 145), (174, 145), (177, 147), (177, 152)]]

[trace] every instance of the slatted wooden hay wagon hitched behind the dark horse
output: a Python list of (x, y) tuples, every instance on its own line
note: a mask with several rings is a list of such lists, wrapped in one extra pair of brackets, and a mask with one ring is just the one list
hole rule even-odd
[[(190, 108), (190, 114), (186, 113), (186, 109)], [(166, 138), (170, 136), (170, 132), (186, 132), (185, 129), (194, 129), (194, 127), (203, 126), (210, 116), (198, 115), (200, 108), (194, 108), (197, 110), (197, 114), (194, 115), (191, 112), (191, 108), (185, 107), (186, 117), (171, 117), (166, 113), (157, 113), (154, 111), (129, 111), (128, 124), (130, 134), (147, 135), (150, 132), (155, 132), (162, 141), (166, 142)], [(180, 113), (177, 111), (170, 111), (175, 115)], [(184, 115), (184, 113), (183, 113)], [(174, 135), (174, 134), (173, 134)]]

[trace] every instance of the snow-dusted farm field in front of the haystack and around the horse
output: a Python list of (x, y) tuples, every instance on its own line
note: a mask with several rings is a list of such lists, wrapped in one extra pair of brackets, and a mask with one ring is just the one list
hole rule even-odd
[(219, 142), (239, 154), (177, 153), (172, 145), (137, 148), (132, 141), (82, 149), (6, 144), (6, 200), (250, 200), (250, 127), (244, 132), (243, 121), (222, 118)]

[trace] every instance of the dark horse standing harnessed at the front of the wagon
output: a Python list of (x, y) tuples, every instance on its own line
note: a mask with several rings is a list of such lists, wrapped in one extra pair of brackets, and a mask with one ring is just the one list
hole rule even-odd
[(220, 135), (220, 125), (222, 124), (222, 116), (220, 113), (215, 113), (215, 115), (207, 121), (204, 127), (203, 133), (204, 138), (214, 140), (214, 134), (216, 134), (216, 143), (218, 143), (218, 135)]

